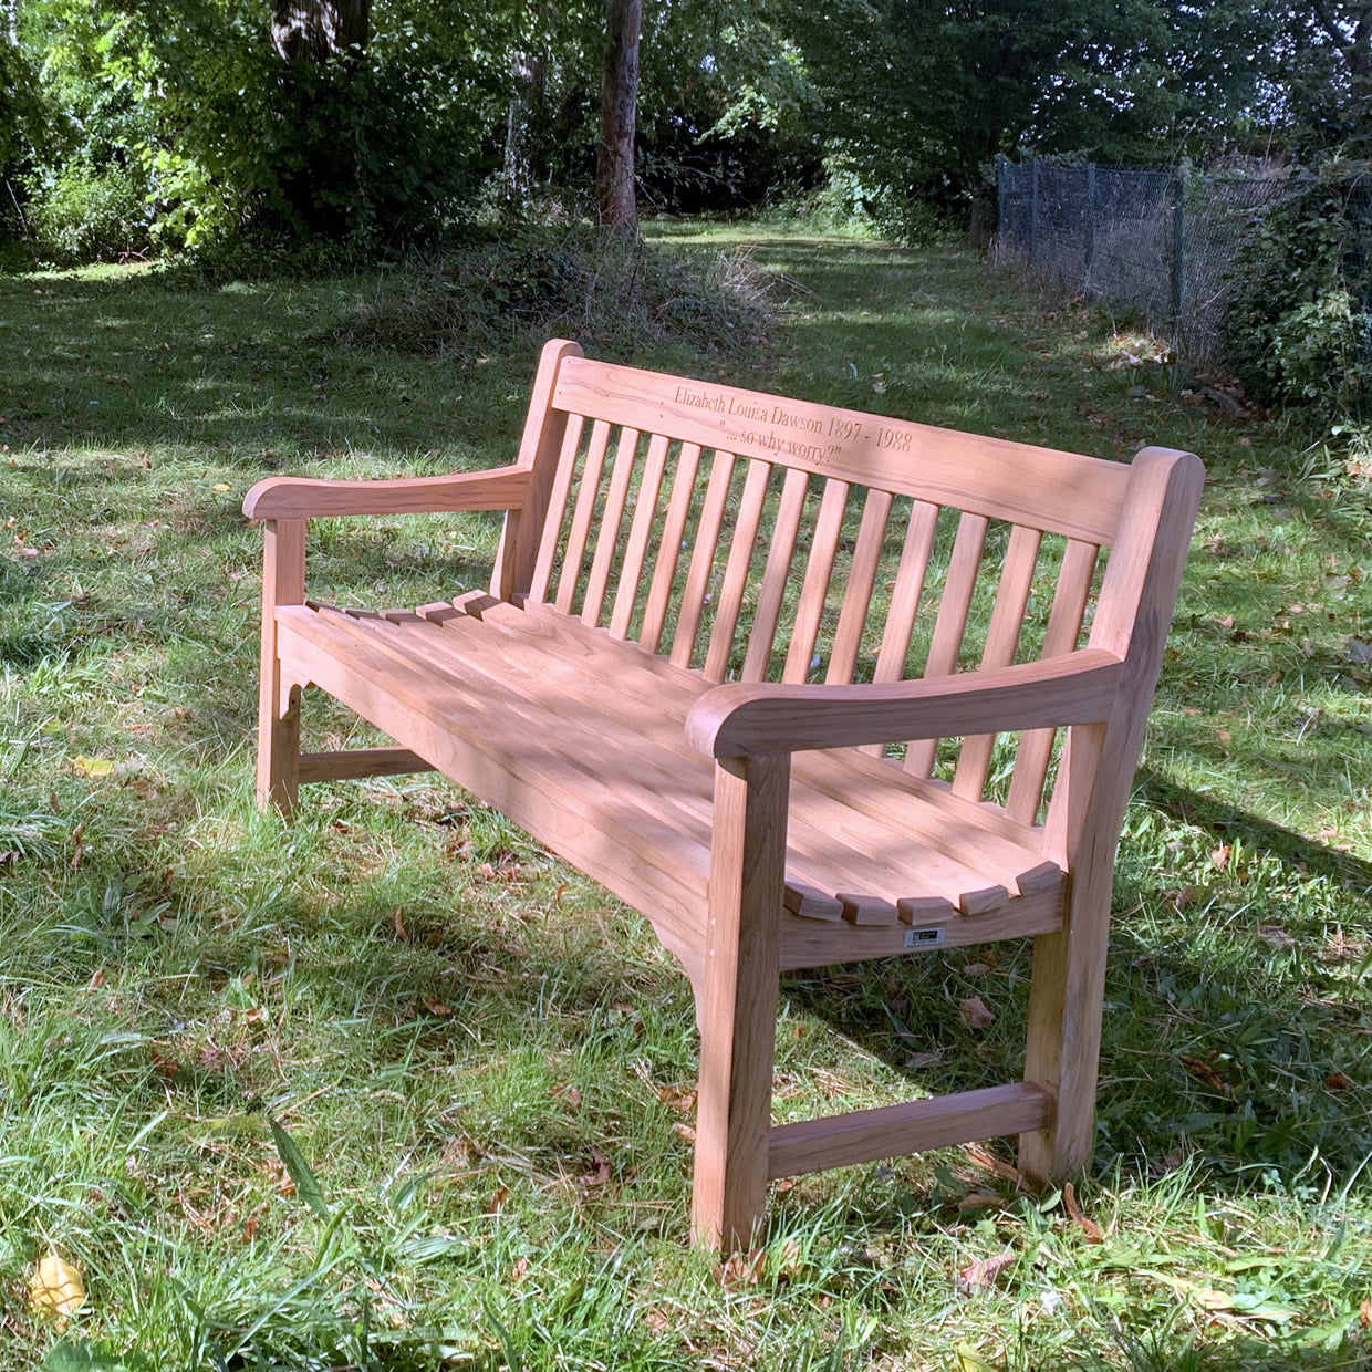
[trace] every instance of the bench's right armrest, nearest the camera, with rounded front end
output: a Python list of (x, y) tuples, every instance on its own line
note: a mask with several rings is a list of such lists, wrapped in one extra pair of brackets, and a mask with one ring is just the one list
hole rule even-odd
[(738, 757), (1085, 724), (1109, 715), (1122, 667), (1096, 648), (889, 686), (716, 686), (691, 707), (686, 738)]

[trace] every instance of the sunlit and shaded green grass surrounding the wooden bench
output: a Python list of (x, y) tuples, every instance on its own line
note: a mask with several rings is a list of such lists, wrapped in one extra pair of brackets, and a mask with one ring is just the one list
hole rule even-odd
[[(1372, 1367), (1365, 476), (1114, 369), (1109, 318), (970, 254), (790, 235), (752, 262), (786, 300), (767, 342), (616, 355), (1210, 469), (1121, 849), (1077, 1192), (1100, 1242), (951, 1150), (799, 1180), (718, 1273), (686, 1243), (690, 996), (637, 915), (429, 778), (255, 812), (243, 491), (505, 460), (531, 340), (336, 342), (368, 279), (8, 277), (0, 1369)], [(495, 535), (327, 523), (311, 584), (451, 594)], [(1004, 944), (792, 978), (778, 1110), (1003, 1078), (1026, 975)], [(49, 1246), (89, 1288), (64, 1329), (27, 1295)]]

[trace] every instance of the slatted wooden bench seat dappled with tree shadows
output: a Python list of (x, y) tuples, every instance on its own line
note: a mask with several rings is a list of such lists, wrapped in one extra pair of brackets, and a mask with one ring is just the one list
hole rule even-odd
[[(685, 737), (711, 687), (698, 672), (484, 593), (386, 613), (283, 606), (277, 626), (288, 670), (471, 778), (700, 970), (713, 766)], [(797, 753), (782, 969), (1061, 927), (1063, 871), (1018, 827), (890, 760)]]

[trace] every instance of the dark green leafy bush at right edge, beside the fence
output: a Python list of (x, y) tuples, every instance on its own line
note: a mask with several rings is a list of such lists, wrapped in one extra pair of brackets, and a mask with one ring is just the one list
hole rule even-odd
[(1239, 248), (1227, 357), (1261, 403), (1340, 417), (1372, 398), (1372, 196), (1336, 165), (1264, 215)]

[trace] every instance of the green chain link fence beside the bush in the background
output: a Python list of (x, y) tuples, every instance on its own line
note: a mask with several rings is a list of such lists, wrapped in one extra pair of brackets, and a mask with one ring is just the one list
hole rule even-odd
[(1196, 362), (1220, 355), (1239, 244), (1302, 176), (1243, 177), (997, 162), (997, 262), (1132, 310)]

